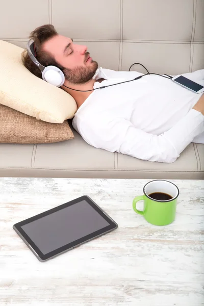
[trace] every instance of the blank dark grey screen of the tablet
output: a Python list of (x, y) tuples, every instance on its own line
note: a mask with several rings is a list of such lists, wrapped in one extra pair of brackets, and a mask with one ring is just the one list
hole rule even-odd
[(21, 228), (43, 254), (110, 225), (86, 200), (41, 217)]

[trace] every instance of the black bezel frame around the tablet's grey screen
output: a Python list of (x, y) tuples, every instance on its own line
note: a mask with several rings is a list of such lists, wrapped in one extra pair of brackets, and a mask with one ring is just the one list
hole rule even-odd
[[(103, 217), (108, 223), (109, 225), (104, 227), (104, 228), (101, 228), (101, 230), (98, 230), (98, 231), (95, 231), (89, 235), (86, 235), (78, 240), (75, 240), (71, 243), (68, 243), (60, 248), (57, 248), (56, 250), (54, 251), (51, 251), (49, 253), (46, 253), (46, 254), (43, 254), (40, 249), (36, 246), (36, 244), (33, 242), (33, 240), (23, 231), (22, 227), (23, 225), (25, 224), (29, 224), (35, 220), (38, 220), (38, 219), (41, 219), (45, 216), (48, 216), (52, 213), (55, 213), (57, 211), (60, 211), (64, 208), (67, 208), (71, 205), (74, 205), (75, 203), (78, 203), (78, 202), (81, 202), (81, 201), (87, 201), (89, 203), (89, 205), (95, 209), (95, 211), (97, 213), (99, 213), (99, 215), (101, 217)], [(89, 196), (87, 195), (83, 195), (79, 198), (76, 198), (76, 199), (73, 199), (69, 202), (66, 202), (62, 205), (59, 205), (55, 208), (52, 208), (52, 209), (49, 209), (43, 213), (40, 213), (38, 215), (35, 215), (31, 218), (28, 218), (28, 219), (25, 219), (23, 221), (20, 221), (18, 223), (15, 223), (13, 225), (13, 229), (16, 231), (16, 233), (22, 238), (22, 240), (25, 242), (25, 244), (27, 244), (27, 246), (33, 251), (33, 253), (35, 254), (35, 256), (40, 260), (40, 261), (46, 261), (48, 259), (51, 259), (51, 258), (54, 258), (56, 256), (58, 256), (59, 254), (62, 254), (68, 250), (71, 250), (75, 247), (78, 247), (80, 246), (81, 244), (83, 243), (86, 243), (92, 239), (95, 239), (99, 236), (102, 236), (108, 232), (111, 232), (113, 230), (115, 230), (116, 228), (118, 227), (118, 224), (110, 217), (108, 216)]]

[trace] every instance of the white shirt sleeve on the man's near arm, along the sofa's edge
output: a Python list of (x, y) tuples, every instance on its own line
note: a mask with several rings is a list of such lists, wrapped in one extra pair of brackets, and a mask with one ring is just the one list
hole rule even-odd
[(94, 128), (82, 124), (79, 130), (85, 141), (97, 148), (151, 162), (172, 163), (204, 131), (204, 116), (192, 109), (161, 135), (136, 129), (130, 121), (120, 118), (109, 122), (96, 121)]

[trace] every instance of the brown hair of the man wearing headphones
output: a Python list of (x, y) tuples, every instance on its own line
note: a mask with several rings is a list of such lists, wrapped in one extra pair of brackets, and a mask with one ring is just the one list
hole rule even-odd
[[(57, 66), (63, 71), (65, 68), (57, 63), (56, 60), (48, 52), (42, 50), (42, 44), (56, 35), (58, 35), (58, 33), (52, 24), (44, 24), (31, 32), (29, 38), (34, 40), (36, 59), (41, 65), (45, 67), (49, 65)], [(36, 77), (42, 79), (42, 73), (30, 59), (27, 49), (24, 49), (22, 52), (22, 62), (27, 69), (36, 75)]]

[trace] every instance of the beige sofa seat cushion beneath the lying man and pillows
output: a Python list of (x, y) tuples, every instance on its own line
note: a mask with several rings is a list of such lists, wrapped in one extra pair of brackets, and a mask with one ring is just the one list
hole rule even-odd
[(74, 139), (48, 144), (0, 144), (0, 176), (204, 179), (204, 145), (191, 143), (174, 163), (111, 153)]

